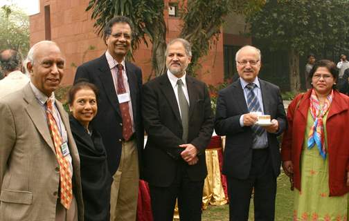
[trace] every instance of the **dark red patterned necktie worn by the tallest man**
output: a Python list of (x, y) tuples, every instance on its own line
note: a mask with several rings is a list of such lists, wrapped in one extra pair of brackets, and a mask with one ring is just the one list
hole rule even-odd
[[(123, 65), (117, 64), (118, 68), (118, 95), (126, 93), (125, 86), (123, 84)], [(123, 117), (123, 138), (127, 141), (132, 136), (132, 119), (129, 115), (129, 102), (123, 102), (120, 104), (121, 116)]]

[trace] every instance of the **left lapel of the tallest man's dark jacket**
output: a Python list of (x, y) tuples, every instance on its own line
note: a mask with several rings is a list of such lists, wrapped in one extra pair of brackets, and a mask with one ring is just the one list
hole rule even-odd
[(105, 55), (102, 55), (100, 57), (100, 65), (99, 68), (100, 72), (98, 73), (98, 77), (100, 77), (100, 81), (103, 84), (103, 87), (105, 88), (105, 93), (107, 94), (107, 97), (109, 98), (109, 102), (111, 103), (111, 106), (115, 109), (115, 111), (120, 115), (120, 108), (118, 103), (118, 97), (116, 95), (115, 86), (114, 86), (114, 80), (111, 76), (111, 71), (108, 66), (107, 58)]

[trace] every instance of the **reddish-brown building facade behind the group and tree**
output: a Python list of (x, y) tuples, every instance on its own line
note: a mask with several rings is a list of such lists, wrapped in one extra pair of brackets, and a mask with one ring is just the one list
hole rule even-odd
[[(66, 55), (66, 70), (63, 84), (73, 82), (75, 70), (82, 63), (99, 57), (105, 52), (106, 46), (94, 28), (91, 11), (86, 12), (89, 0), (39, 0), (40, 11), (30, 16), (30, 45), (44, 39), (57, 42)], [(170, 8), (171, 2), (165, 0), (163, 12), (167, 26), (166, 41), (179, 36), (181, 20)], [(242, 37), (246, 30), (244, 19), (238, 15), (226, 17), (217, 45), (202, 57), (202, 68), (197, 78), (216, 86), (235, 73), (235, 52), (251, 39)], [(143, 81), (147, 81), (151, 71), (151, 44), (145, 44), (134, 52), (134, 63), (143, 70)]]

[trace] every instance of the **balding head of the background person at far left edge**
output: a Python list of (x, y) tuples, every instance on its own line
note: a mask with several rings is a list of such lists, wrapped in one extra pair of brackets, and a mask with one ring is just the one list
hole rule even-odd
[[(7, 55), (4, 55), (7, 52)], [(4, 73), (10, 73), (14, 70), (21, 69), (21, 54), (14, 49), (1, 50), (0, 52), (0, 67)]]

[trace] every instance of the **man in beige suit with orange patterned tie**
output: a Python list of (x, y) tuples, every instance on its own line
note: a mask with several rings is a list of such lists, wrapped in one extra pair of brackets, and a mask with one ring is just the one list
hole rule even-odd
[(0, 220), (83, 220), (80, 160), (54, 91), (64, 57), (53, 41), (28, 52), (30, 83), (0, 99)]

